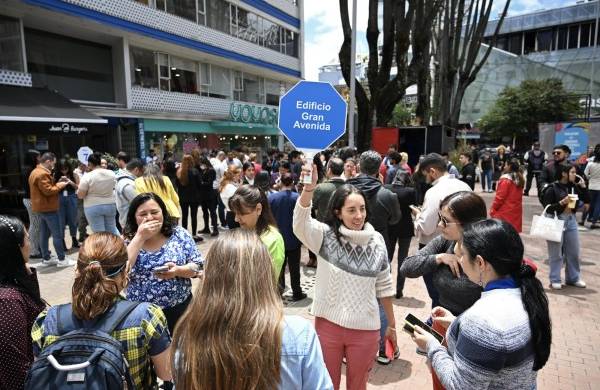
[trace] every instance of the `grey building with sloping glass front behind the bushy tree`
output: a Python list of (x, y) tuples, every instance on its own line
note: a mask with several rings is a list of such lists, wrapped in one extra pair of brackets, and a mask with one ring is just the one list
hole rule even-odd
[[(492, 53), (466, 91), (461, 122), (477, 122), (505, 87), (550, 77), (562, 80), (569, 93), (589, 97), (592, 116), (600, 115), (599, 13), (598, 0), (573, 1), (505, 18)], [(487, 43), (497, 23), (488, 23)]]

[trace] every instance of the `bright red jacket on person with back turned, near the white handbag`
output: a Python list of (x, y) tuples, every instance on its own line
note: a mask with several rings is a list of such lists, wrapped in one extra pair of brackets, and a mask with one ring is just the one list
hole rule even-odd
[(490, 217), (510, 223), (519, 233), (523, 230), (523, 188), (517, 187), (506, 175), (500, 178), (496, 186)]

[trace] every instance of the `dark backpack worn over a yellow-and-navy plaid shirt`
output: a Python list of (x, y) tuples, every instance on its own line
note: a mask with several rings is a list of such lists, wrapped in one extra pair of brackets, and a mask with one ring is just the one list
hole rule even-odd
[(135, 389), (123, 347), (111, 333), (137, 305), (117, 301), (91, 328), (83, 327), (71, 304), (59, 305), (59, 338), (33, 363), (25, 389)]

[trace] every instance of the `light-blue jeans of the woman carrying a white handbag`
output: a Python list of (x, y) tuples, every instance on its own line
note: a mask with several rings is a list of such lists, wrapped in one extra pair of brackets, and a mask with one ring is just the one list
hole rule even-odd
[(550, 283), (560, 283), (560, 271), (563, 262), (566, 264), (565, 281), (575, 283), (579, 280), (579, 232), (575, 214), (561, 214), (559, 219), (565, 221), (562, 242), (546, 241), (550, 262)]

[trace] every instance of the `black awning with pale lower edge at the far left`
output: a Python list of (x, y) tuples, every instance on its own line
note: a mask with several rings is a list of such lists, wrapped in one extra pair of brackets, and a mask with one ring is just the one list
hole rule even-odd
[(46, 88), (0, 85), (0, 121), (108, 123)]

